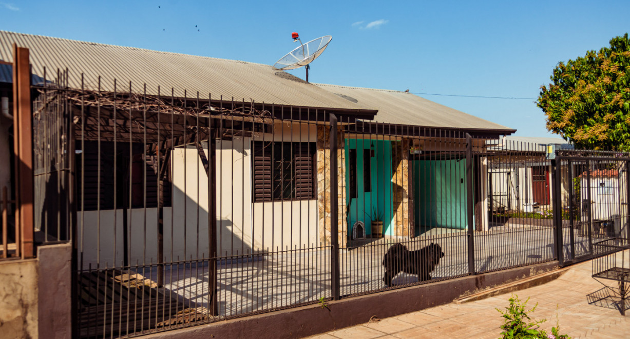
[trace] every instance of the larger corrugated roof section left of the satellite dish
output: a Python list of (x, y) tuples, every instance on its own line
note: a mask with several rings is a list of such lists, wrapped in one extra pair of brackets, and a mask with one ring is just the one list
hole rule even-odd
[[(179, 53), (157, 52), (141, 48), (79, 42), (48, 36), (28, 35), (0, 31), (0, 60), (13, 61), (13, 43), (30, 49), (33, 73), (47, 78), (57, 69), (69, 69), (71, 87), (81, 86), (81, 72), (85, 85), (91, 89), (113, 91), (113, 79), (117, 79), (117, 90), (142, 91), (147, 85), (148, 94), (170, 94), (175, 87), (175, 96), (274, 103), (294, 106), (338, 109), (366, 109), (365, 106), (347, 101), (324, 89), (306, 82), (294, 81), (276, 75), (270, 65), (254, 64), (238, 60), (199, 57)], [(287, 75), (287, 74), (284, 74)], [(369, 109), (369, 108), (368, 108)]]

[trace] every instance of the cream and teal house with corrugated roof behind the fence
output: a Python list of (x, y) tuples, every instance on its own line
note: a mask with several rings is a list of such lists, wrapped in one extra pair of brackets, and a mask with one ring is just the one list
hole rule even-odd
[[(382, 216), (387, 236), (464, 229), (466, 133), (473, 137), (475, 152), (481, 152), (486, 140), (515, 131), (407, 92), (309, 84), (269, 65), (7, 31), (0, 31), (0, 42), (4, 62), (11, 62), (12, 43), (30, 48), (32, 71), (41, 81), (60, 82), (55, 80), (57, 69), (74, 67), (64, 78), (74, 89), (133, 92), (193, 106), (195, 100), (222, 108), (251, 105), (270, 112), (260, 118), (260, 128), (244, 118), (217, 117), (227, 133), (217, 136), (219, 255), (329, 241), (329, 114), (338, 116), (341, 126), (338, 202), (347, 216), (341, 218), (342, 245), (356, 221), (367, 227), (373, 212)], [(188, 129), (173, 129), (170, 141), (155, 131), (134, 138), (132, 134), (140, 132), (112, 134), (117, 125), (106, 116), (111, 111), (73, 109), (75, 161), (77, 169), (83, 166), (76, 175), (77, 238), (84, 267), (158, 262), (153, 240), (158, 238), (161, 208), (164, 253), (170, 253), (172, 261), (207, 255), (209, 184), (202, 160), (207, 157), (204, 140), (213, 137), (208, 134), (210, 126), (185, 122)], [(141, 109), (134, 112), (142, 117)], [(83, 125), (82, 114), (91, 117)], [(243, 133), (237, 133), (239, 129)], [(138, 131), (142, 130), (149, 128)], [(0, 133), (3, 140), (8, 138), (7, 131)], [(157, 149), (164, 142), (170, 142), (170, 148), (157, 155), (147, 153), (146, 143)], [(164, 152), (170, 163), (163, 173), (157, 162), (167, 158)], [(471, 184), (483, 187), (474, 196), (475, 223), (478, 230), (485, 230), (487, 159), (472, 159), (481, 175)], [(295, 175), (287, 177), (284, 171)], [(131, 175), (138, 172), (146, 175)], [(162, 175), (165, 184), (159, 198), (157, 177)], [(143, 182), (147, 194), (134, 189), (144, 187)], [(45, 218), (46, 202), (39, 199), (36, 225), (43, 225), (38, 230), (45, 232), (55, 228), (55, 221)], [(299, 228), (286, 230), (282, 225)], [(365, 231), (371, 233), (370, 228)], [(186, 237), (186, 232), (195, 236)], [(139, 245), (143, 240), (145, 245)]]

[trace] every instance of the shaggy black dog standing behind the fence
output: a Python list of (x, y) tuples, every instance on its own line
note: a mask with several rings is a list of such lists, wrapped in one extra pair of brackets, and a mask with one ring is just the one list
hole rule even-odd
[(401, 243), (396, 243), (383, 257), (383, 266), (385, 266), (383, 282), (391, 286), (392, 279), (400, 272), (417, 274), (418, 281), (431, 280), (430, 274), (442, 257), (444, 257), (444, 252), (437, 243), (431, 243), (415, 251), (410, 251)]

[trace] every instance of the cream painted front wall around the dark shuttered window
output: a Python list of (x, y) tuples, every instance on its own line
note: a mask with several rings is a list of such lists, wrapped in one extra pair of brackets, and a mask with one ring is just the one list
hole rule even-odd
[[(275, 130), (273, 135), (264, 135), (264, 140), (316, 142), (315, 125), (278, 123)], [(217, 140), (217, 252), (230, 256), (275, 247), (318, 245), (316, 199), (252, 203), (252, 140), (263, 140), (263, 135)], [(204, 152), (207, 156), (206, 148)], [(164, 208), (166, 261), (207, 257), (209, 197), (205, 169), (195, 147), (176, 148), (171, 158), (173, 207)], [(96, 267), (97, 262), (101, 267), (106, 263), (112, 266), (114, 262), (122, 265), (122, 210), (79, 211), (77, 214), (84, 267), (88, 268), (90, 263)], [(146, 218), (144, 209), (131, 209), (128, 214), (130, 264), (156, 263), (157, 208), (147, 208)]]

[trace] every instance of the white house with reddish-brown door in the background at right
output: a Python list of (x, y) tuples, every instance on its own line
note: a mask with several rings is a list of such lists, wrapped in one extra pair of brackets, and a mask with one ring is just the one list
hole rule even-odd
[[(507, 136), (496, 150), (510, 153), (510, 161), (497, 157), (488, 167), (491, 212), (527, 213), (541, 211), (541, 206), (550, 209), (552, 187), (547, 160), (556, 150), (567, 149), (573, 146), (561, 138)], [(565, 206), (570, 186), (565, 180), (561, 187)]]

